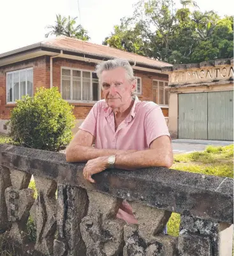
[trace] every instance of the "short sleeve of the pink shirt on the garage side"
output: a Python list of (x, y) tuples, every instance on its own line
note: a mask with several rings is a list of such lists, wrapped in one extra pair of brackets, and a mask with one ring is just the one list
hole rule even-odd
[(160, 136), (168, 135), (170, 137), (163, 112), (159, 105), (155, 103), (152, 103), (149, 112), (145, 116), (145, 132), (148, 147), (150, 147), (153, 140)]

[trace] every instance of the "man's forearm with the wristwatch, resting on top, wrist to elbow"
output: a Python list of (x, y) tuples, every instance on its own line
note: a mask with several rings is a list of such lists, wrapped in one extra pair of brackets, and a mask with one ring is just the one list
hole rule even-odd
[(135, 153), (117, 155), (115, 168), (134, 170), (148, 167), (170, 168), (173, 163), (173, 156), (170, 152), (155, 149), (137, 151)]

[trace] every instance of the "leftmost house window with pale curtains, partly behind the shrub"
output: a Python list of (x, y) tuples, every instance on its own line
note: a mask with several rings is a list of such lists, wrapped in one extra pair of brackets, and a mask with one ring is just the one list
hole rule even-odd
[(6, 73), (6, 102), (14, 103), (26, 94), (33, 96), (33, 68)]

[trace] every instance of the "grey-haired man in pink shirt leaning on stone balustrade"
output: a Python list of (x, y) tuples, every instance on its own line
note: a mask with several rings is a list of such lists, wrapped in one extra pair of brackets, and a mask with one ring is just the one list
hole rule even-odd
[[(128, 61), (105, 61), (97, 65), (96, 72), (104, 100), (92, 107), (66, 149), (66, 160), (87, 162), (84, 178), (91, 183), (95, 183), (92, 174), (105, 169), (171, 167), (172, 145), (165, 117), (156, 103), (141, 102), (135, 96), (136, 79)], [(127, 202), (117, 218), (137, 223)]]

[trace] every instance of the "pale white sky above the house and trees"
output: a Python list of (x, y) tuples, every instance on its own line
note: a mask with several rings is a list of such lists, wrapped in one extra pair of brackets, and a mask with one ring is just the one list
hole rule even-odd
[[(54, 25), (56, 14), (78, 17), (91, 42), (101, 44), (122, 17), (133, 14), (138, 0), (0, 0), (0, 54), (45, 40), (47, 25)], [(145, 0), (146, 1), (146, 0)], [(179, 0), (174, 0), (180, 8)], [(233, 0), (196, 0), (201, 11), (215, 10), (233, 15)], [(80, 11), (79, 11), (80, 10)]]

